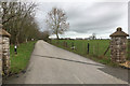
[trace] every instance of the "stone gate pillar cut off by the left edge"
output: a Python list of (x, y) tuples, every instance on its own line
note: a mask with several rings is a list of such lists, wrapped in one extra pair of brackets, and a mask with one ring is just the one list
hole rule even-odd
[(2, 58), (0, 59), (2, 60), (2, 71), (6, 75), (9, 74), (10, 69), (10, 33), (3, 29), (0, 29), (0, 38), (2, 38), (2, 40), (0, 39), (0, 47), (2, 48), (2, 51), (0, 51)]

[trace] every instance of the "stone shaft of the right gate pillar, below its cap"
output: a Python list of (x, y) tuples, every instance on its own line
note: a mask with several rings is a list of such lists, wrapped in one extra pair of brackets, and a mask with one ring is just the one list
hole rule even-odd
[(126, 61), (126, 48), (127, 48), (126, 37), (113, 37), (110, 41), (112, 61), (125, 62)]

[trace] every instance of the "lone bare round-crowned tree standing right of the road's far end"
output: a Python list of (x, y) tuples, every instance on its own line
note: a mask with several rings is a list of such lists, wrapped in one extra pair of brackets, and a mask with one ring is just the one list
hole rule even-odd
[(57, 40), (58, 34), (63, 34), (69, 28), (69, 24), (66, 22), (67, 16), (65, 12), (61, 9), (53, 8), (47, 16), (47, 27), (51, 30), (53, 34), (56, 34)]

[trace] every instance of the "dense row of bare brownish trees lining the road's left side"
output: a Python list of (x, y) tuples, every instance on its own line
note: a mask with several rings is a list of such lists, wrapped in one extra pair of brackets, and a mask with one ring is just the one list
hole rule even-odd
[(1, 2), (0, 15), (2, 29), (11, 34), (11, 43), (20, 44), (31, 39), (39, 39), (37, 22), (35, 20), (37, 4), (29, 2)]

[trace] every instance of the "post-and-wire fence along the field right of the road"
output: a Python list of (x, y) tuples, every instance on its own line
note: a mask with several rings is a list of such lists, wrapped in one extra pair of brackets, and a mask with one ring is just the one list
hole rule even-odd
[(109, 40), (52, 40), (52, 44), (74, 51), (80, 55), (110, 57)]

